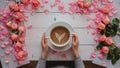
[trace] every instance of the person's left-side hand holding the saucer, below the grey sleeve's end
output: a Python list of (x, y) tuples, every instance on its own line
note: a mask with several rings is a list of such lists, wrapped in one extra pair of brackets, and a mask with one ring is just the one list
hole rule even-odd
[(42, 47), (41, 58), (46, 59), (49, 47), (48, 47), (47, 38), (45, 37), (45, 33), (43, 33), (43, 36), (41, 39), (41, 47)]

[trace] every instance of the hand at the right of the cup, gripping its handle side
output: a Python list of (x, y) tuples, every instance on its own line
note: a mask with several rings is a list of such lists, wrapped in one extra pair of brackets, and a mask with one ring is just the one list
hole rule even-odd
[(79, 57), (78, 46), (79, 46), (78, 36), (76, 34), (73, 34), (72, 35), (72, 50), (76, 58)]

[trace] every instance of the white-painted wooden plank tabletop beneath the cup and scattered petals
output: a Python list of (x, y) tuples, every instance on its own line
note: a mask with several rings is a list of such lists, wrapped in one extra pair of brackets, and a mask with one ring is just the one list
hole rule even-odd
[[(3, 6), (5, 4), (5, 0), (0, 0), (0, 6)], [(96, 42), (93, 40), (93, 37), (91, 35), (91, 31), (86, 28), (86, 26), (90, 23), (86, 20), (86, 16), (84, 15), (70, 15), (70, 14), (62, 14), (57, 8), (50, 8), (50, 4), (54, 0), (49, 0), (49, 4), (45, 5), (50, 12), (48, 14), (43, 13), (44, 9), (39, 9), (39, 11), (35, 12), (33, 16), (29, 16), (29, 20), (27, 23), (25, 23), (26, 26), (29, 24), (32, 25), (32, 29), (27, 30), (26, 34), (26, 45), (28, 49), (29, 59), (30, 60), (38, 60), (40, 53), (41, 53), (41, 46), (40, 46), (40, 40), (42, 34), (47, 30), (47, 28), (56, 22), (64, 21), (69, 23), (77, 33), (79, 39), (80, 39), (80, 47), (79, 47), (79, 53), (84, 61), (91, 60), (90, 54), (94, 52), (93, 46), (96, 45)], [(68, 3), (75, 0), (61, 0), (66, 4), (65, 8), (68, 9)], [(120, 12), (119, 5), (120, 1), (115, 0), (114, 1), (115, 6), (118, 6), (118, 11)], [(120, 13), (117, 14), (119, 16)], [(69, 50), (70, 51), (70, 50)], [(67, 60), (72, 60), (73, 56), (69, 51), (66, 51), (65, 53), (68, 55)], [(60, 57), (58, 57), (62, 53), (57, 53), (55, 55), (52, 55), (51, 52), (48, 55), (48, 60), (61, 60)], [(64, 59), (63, 59), (64, 60)], [(10, 67), (9, 67), (10, 68)]]

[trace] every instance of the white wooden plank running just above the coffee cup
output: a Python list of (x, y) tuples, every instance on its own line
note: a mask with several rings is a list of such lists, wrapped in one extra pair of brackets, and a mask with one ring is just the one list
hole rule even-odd
[(86, 16), (83, 15), (69, 15), (69, 14), (61, 14), (61, 13), (35, 13), (33, 16), (29, 17), (29, 20), (25, 25), (32, 24), (33, 28), (47, 28), (51, 24), (55, 22), (66, 22), (70, 24), (72, 27), (80, 27), (86, 28), (87, 25), (90, 23), (86, 20)]

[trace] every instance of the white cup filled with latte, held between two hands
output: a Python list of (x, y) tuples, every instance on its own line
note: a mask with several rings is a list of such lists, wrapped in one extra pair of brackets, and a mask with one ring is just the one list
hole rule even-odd
[(70, 42), (70, 31), (65, 26), (55, 26), (50, 31), (50, 42), (56, 47), (64, 47)]

